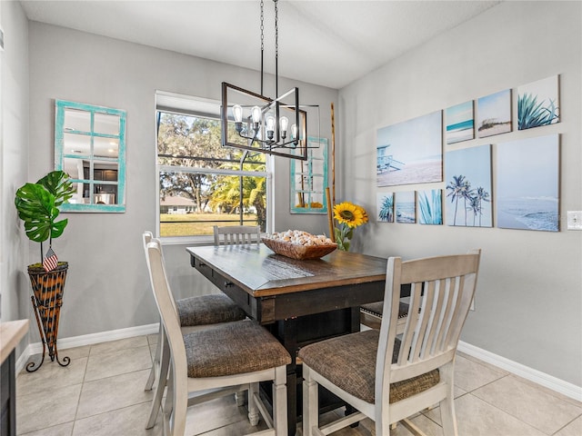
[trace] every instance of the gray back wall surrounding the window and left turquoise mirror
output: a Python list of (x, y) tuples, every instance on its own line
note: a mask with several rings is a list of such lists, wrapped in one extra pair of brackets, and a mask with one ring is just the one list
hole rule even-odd
[[(53, 25), (29, 26), (31, 180), (53, 169), (55, 99), (127, 112), (126, 212), (67, 213), (69, 224), (54, 243), (59, 259), (69, 263), (59, 337), (157, 322), (141, 247), (141, 233), (156, 226), (156, 90), (219, 100), (221, 82), (258, 91), (259, 74)], [(266, 80), (267, 94), (272, 82)], [(280, 90), (294, 85), (302, 103), (320, 105), (321, 134), (329, 138), (330, 104), (336, 103), (337, 91), (280, 78)], [(288, 213), (288, 160), (276, 158), (276, 174), (276, 230), (324, 231), (325, 215)], [(166, 246), (176, 296), (212, 291), (189, 266), (185, 247)], [(37, 244), (30, 250), (35, 256)]]

